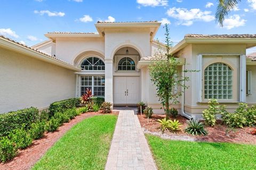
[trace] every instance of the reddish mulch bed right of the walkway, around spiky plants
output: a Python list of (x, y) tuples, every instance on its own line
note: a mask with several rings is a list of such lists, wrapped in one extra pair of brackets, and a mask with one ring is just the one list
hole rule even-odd
[[(164, 118), (165, 115), (153, 115), (152, 118), (148, 119), (145, 117), (145, 115), (138, 115), (141, 127), (149, 132), (157, 132), (162, 133), (159, 129), (159, 124), (157, 123), (158, 119)], [(174, 118), (171, 118), (172, 120)], [(243, 143), (243, 144), (252, 144), (256, 145), (256, 135), (250, 134), (250, 132), (253, 129), (256, 128), (243, 128), (243, 129), (236, 129), (234, 132), (229, 132), (229, 137), (226, 136), (226, 126), (221, 125), (221, 121), (217, 121), (217, 125), (214, 127), (206, 126), (205, 129), (209, 132), (206, 136), (198, 136), (193, 137), (192, 135), (186, 133), (184, 129), (187, 126), (187, 118), (183, 116), (178, 116), (175, 118), (176, 120), (179, 120), (180, 123), (182, 123), (182, 126), (180, 127), (180, 131), (178, 132), (165, 132), (165, 135), (169, 135), (170, 137), (191, 137), (195, 138), (196, 141), (208, 141), (208, 142), (231, 142), (231, 143)], [(181, 138), (182, 140), (182, 138)]]

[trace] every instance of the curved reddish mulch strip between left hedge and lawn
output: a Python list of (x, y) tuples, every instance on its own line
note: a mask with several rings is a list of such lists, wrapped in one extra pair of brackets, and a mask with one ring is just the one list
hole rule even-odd
[[(113, 111), (111, 114), (118, 115), (119, 112)], [(97, 112), (84, 113), (76, 116), (68, 123), (64, 123), (59, 129), (53, 133), (45, 133), (42, 139), (34, 140), (32, 145), (26, 149), (19, 150), (19, 155), (9, 162), (1, 163), (0, 169), (5, 170), (24, 170), (30, 169), (44, 154), (45, 152), (57, 142), (63, 134), (71, 129), (77, 123), (95, 115), (102, 115)]]

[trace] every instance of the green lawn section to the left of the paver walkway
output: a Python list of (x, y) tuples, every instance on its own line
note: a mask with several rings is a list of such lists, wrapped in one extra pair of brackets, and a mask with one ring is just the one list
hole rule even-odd
[(104, 169), (117, 116), (100, 115), (76, 124), (33, 169)]

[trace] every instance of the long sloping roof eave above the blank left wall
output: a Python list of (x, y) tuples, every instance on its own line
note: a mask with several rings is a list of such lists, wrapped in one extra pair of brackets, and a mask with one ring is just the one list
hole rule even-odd
[(65, 67), (66, 69), (69, 69), (69, 70), (81, 71), (81, 69), (79, 69), (75, 66), (69, 65), (69, 64), (67, 64), (65, 62), (62, 62), (62, 61), (59, 61), (55, 58), (52, 58), (52, 57), (49, 57), (47, 55), (36, 52), (33, 49), (29, 49), (29, 48), (23, 47), (19, 44), (15, 44), (15, 43), (13, 43), (9, 40), (3, 39), (3, 38), (0, 38), (0, 47), (10, 49), (10, 50), (13, 50), (15, 52), (19, 52), (19, 53), (31, 56), (33, 58), (37, 58), (38, 60), (42, 60), (42, 61), (47, 62), (47, 63), (51, 63), (51, 64), (58, 65), (58, 66), (61, 66), (61, 67)]

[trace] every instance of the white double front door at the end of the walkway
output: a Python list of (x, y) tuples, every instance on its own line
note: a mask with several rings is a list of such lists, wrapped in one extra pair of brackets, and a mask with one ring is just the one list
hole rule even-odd
[(139, 103), (139, 77), (114, 78), (114, 104)]

